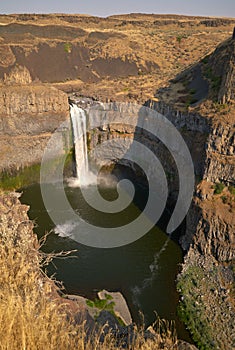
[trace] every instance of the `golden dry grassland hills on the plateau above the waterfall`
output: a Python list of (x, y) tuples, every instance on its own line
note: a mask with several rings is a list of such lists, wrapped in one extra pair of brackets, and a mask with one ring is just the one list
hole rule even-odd
[[(61, 71), (68, 70), (68, 73), (57, 73), (56, 79), (54, 74), (52, 77), (49, 77), (50, 74), (46, 74), (46, 77), (38, 75), (37, 79), (44, 83), (51, 82), (53, 84), (57, 81), (59, 89), (69, 92), (78, 90), (85, 96), (89, 94), (100, 100), (111, 98), (126, 101), (131, 100), (133, 95), (136, 95), (134, 98), (142, 103), (148, 98), (153, 98), (158, 88), (167, 84), (169, 79), (172, 79), (189, 65), (198, 62), (212, 52), (220, 42), (229, 38), (235, 23), (234, 19), (231, 19), (227, 24), (222, 21), (216, 26), (207, 26), (200, 24), (201, 21), (200, 17), (146, 16), (141, 14), (113, 16), (107, 19), (80, 15), (0, 16), (0, 22), (5, 24), (17, 23), (24, 26), (38, 25), (39, 27), (56, 25), (58, 29), (58, 37), (50, 30), (47, 31), (46, 35), (39, 36), (32, 33), (30, 36), (28, 33), (22, 35), (1, 34), (4, 43), (4, 50), (0, 58), (1, 65), (8, 67), (11, 62), (15, 60), (17, 62), (18, 54), (13, 54), (12, 51), (14, 47), (21, 47), (22, 52), (27, 56), (27, 61), (33, 61), (34, 57), (30, 54), (39, 52), (42, 44), (47, 44), (48, 50), (52, 47), (56, 49), (56, 45), (65, 42), (74, 47), (80, 45), (82, 50), (84, 48), (88, 50), (89, 62), (79, 63), (78, 61), (76, 63), (71, 60), (72, 56), (68, 59), (69, 56), (66, 54), (64, 57), (58, 49), (57, 63), (61, 62), (63, 65), (63, 62), (66, 62)], [(68, 28), (72, 32), (75, 28), (82, 30), (84, 35), (74, 37), (74, 35), (69, 36), (68, 34), (68, 36), (63, 37), (63, 30)], [(92, 38), (91, 33), (93, 35), (98, 33), (98, 36)], [(46, 52), (42, 54), (45, 56)], [(83, 56), (82, 53), (81, 55)], [(40, 71), (49, 67), (48, 56), (45, 57), (44, 61), (47, 62), (47, 65), (45, 67), (42, 65)], [(133, 73), (126, 66), (124, 73), (120, 73), (120, 76), (116, 75), (116, 69), (110, 63), (115, 58), (136, 64), (138, 73)], [(93, 66), (96, 59), (103, 62), (100, 63), (99, 67), (106, 67), (103, 73), (103, 68), (98, 69), (96, 64)], [(87, 64), (89, 69), (93, 71), (92, 81), (90, 81), (91, 77), (86, 76), (88, 73), (81, 74), (78, 70), (77, 74), (74, 74), (75, 67), (80, 64), (84, 65), (83, 73), (87, 69)], [(117, 61), (115, 65), (118, 66), (119, 62)], [(111, 68), (108, 68), (109, 66)], [(35, 67), (32, 70), (36, 72)], [(37, 75), (35, 72), (34, 74)], [(96, 79), (99, 76), (101, 78)], [(122, 93), (126, 82), (129, 84), (129, 90)]]

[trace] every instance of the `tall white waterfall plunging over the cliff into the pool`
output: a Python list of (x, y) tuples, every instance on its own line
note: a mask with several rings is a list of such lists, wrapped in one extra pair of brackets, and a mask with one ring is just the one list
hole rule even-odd
[(73, 104), (70, 106), (70, 115), (75, 147), (76, 176), (79, 185), (87, 184), (91, 173), (89, 171), (87, 153), (86, 114), (82, 108)]

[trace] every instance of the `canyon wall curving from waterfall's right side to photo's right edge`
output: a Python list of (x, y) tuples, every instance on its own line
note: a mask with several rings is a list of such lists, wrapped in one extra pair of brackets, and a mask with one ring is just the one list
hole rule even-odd
[[(192, 156), (196, 184), (193, 203), (186, 218), (186, 231), (180, 237), (185, 251), (190, 247), (217, 261), (230, 261), (235, 257), (234, 242), (234, 201), (229, 191), (224, 189), (220, 195), (214, 193), (214, 184), (223, 182), (234, 185), (234, 127), (226, 121), (213, 121), (199, 113), (180, 112), (162, 102), (148, 101), (146, 106), (163, 114), (179, 130)], [(125, 142), (120, 146), (120, 138)], [(126, 124), (105, 125), (89, 134), (89, 148), (96, 149), (95, 159), (102, 163), (107, 159), (118, 162), (125, 156), (133, 140), (151, 149), (161, 161), (167, 175), (170, 201), (174, 203), (178, 195), (178, 176), (174, 160), (167, 148), (151, 134)], [(110, 140), (113, 142), (110, 143)], [(104, 144), (102, 143), (109, 141)], [(138, 169), (128, 161), (119, 162)], [(138, 176), (143, 174), (138, 173)], [(172, 204), (171, 203), (171, 204)]]

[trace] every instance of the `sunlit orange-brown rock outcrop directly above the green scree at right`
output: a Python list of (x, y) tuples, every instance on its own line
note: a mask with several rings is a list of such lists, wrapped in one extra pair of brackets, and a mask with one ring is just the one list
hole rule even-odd
[[(212, 183), (210, 187), (213, 188)], [(198, 195), (203, 197), (201, 190)], [(218, 195), (208, 197), (194, 198), (186, 218), (185, 235), (180, 238), (181, 246), (185, 251), (191, 247), (203, 256), (213, 256), (220, 262), (231, 261), (235, 258), (233, 199), (228, 193), (224, 193), (222, 198)], [(228, 203), (223, 203), (224, 198)]]

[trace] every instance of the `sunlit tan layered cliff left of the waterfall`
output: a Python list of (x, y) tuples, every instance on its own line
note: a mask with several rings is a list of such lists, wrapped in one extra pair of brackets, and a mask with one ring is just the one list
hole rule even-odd
[(52, 133), (69, 118), (67, 95), (41, 85), (0, 92), (0, 173), (40, 163)]

